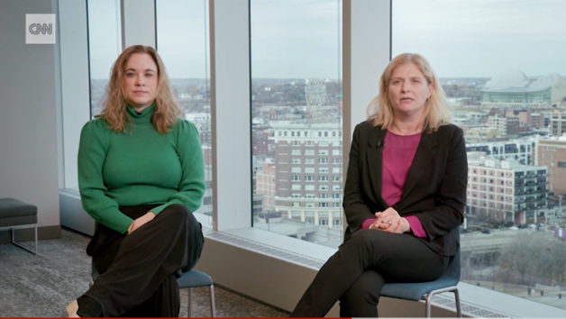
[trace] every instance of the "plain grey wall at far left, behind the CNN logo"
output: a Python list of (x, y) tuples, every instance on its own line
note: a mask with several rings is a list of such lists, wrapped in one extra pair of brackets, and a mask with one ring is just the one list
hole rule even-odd
[(0, 198), (37, 205), (39, 226), (57, 226), (44, 238), (59, 236), (59, 57), (54, 44), (25, 44), (25, 14), (56, 5), (0, 1)]

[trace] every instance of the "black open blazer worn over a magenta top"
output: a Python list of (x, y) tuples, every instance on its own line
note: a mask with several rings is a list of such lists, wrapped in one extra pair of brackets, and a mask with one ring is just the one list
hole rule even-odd
[[(348, 240), (374, 213), (388, 208), (381, 198), (381, 149), (385, 130), (368, 122), (356, 126), (344, 187), (343, 208)], [(401, 216), (415, 215), (426, 238), (421, 240), (443, 256), (459, 247), (456, 228), (463, 222), (468, 160), (463, 132), (455, 125), (423, 132), (408, 170), (401, 198), (392, 205)]]

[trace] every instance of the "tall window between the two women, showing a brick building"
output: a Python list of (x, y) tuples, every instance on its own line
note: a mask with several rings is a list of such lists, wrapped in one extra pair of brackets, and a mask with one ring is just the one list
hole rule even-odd
[(251, 0), (253, 225), (330, 247), (343, 223), (340, 31), (341, 1)]

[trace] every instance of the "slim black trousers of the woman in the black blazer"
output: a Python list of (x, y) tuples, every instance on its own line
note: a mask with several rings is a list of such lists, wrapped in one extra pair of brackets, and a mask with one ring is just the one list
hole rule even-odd
[(323, 317), (340, 300), (341, 317), (377, 317), (386, 282), (440, 278), (449, 260), (408, 233), (354, 232), (318, 271), (291, 316)]

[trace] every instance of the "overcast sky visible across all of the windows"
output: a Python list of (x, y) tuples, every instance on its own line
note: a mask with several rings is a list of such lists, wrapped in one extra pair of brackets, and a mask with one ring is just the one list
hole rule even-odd
[[(93, 78), (120, 50), (117, 2), (88, 2)], [(157, 0), (169, 77), (205, 77), (206, 3)], [(251, 0), (252, 77), (338, 77), (340, 10), (339, 0)], [(421, 53), (439, 77), (566, 75), (565, 0), (393, 0), (392, 11), (393, 55)]]

